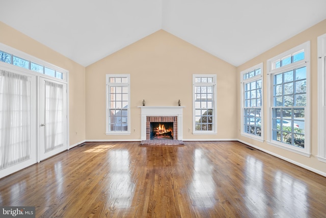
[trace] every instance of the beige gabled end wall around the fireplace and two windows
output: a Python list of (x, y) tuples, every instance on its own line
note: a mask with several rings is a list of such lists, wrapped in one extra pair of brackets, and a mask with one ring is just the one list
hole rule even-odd
[[(131, 134), (105, 134), (105, 75), (130, 74)], [(218, 133), (193, 135), (193, 74), (217, 75)], [(177, 106), (183, 109), (183, 139), (236, 137), (236, 67), (163, 31), (157, 31), (86, 67), (87, 140), (140, 140), (140, 108)], [(223, 126), (221, 125), (223, 124)], [(133, 132), (135, 129), (135, 132)], [(191, 132), (188, 132), (191, 129)]]

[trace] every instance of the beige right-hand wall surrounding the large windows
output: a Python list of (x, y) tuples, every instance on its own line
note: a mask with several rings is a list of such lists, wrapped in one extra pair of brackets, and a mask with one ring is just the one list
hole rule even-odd
[[(283, 52), (286, 52), (287, 50), (292, 49), (292, 47), (295, 47), (297, 45), (300, 45), (306, 41), (310, 41), (310, 52), (311, 52), (311, 56), (310, 56), (310, 78), (311, 78), (311, 94), (310, 94), (310, 98), (311, 98), (311, 129), (310, 129), (310, 133), (311, 133), (311, 157), (304, 157), (302, 155), (299, 154), (295, 154), (274, 146), (270, 146), (269, 144), (267, 144), (266, 141), (264, 142), (259, 142), (253, 139), (249, 139), (247, 137), (243, 137), (240, 135), (239, 130), (240, 130), (240, 126), (241, 126), (241, 117), (240, 117), (240, 85), (237, 85), (237, 127), (238, 127), (238, 135), (237, 138), (250, 143), (256, 147), (259, 147), (263, 150), (266, 150), (268, 152), (274, 153), (276, 155), (280, 155), (286, 159), (291, 160), (292, 162), (296, 162), (298, 164), (303, 164), (305, 167), (311, 167), (313, 169), (317, 169), (317, 171), (323, 172), (324, 174), (326, 174), (326, 163), (320, 162), (317, 160), (316, 156), (317, 156), (317, 152), (318, 152), (318, 128), (317, 128), (317, 37), (326, 33), (326, 20), (321, 21), (320, 23), (318, 23), (317, 25), (307, 29), (306, 31), (284, 41), (283, 43), (273, 47), (273, 49), (270, 49), (268, 51), (266, 51), (265, 53), (259, 55), (258, 57), (248, 61), (247, 63), (242, 64), (241, 66), (237, 67), (237, 84), (240, 84), (240, 72), (242, 70), (246, 70), (249, 67), (252, 67), (256, 64), (259, 64), (261, 62), (263, 62), (264, 64), (264, 116), (265, 119), (267, 118), (267, 78), (266, 78), (266, 61), (270, 58), (273, 58)], [(267, 139), (267, 125), (266, 122), (264, 124), (264, 139)], [(306, 130), (309, 131), (309, 130)]]

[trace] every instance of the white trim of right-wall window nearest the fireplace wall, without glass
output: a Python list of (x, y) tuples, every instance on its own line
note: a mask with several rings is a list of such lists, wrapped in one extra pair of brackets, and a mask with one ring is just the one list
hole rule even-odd
[[(250, 67), (246, 70), (243, 70), (241, 71), (240, 73), (240, 84), (241, 84), (241, 135), (242, 136), (245, 136), (245, 137), (248, 137), (248, 138), (252, 138), (252, 139), (255, 139), (255, 140), (258, 140), (258, 141), (261, 141), (263, 142), (264, 141), (264, 80), (263, 80), (263, 75), (264, 75), (264, 70), (263, 70), (263, 63), (260, 63), (260, 64), (257, 64), (253, 67)], [(261, 74), (259, 76), (255, 76), (255, 77), (252, 77), (252, 78), (249, 78), (249, 79), (246, 79), (246, 80), (243, 80), (243, 75), (246, 74), (247, 72), (250, 72), (252, 70), (255, 70), (255, 69), (258, 69), (260, 68), (261, 70)], [(257, 136), (257, 135), (253, 135), (253, 134), (248, 134), (246, 132), (243, 131), (243, 108), (244, 108), (244, 83), (248, 83), (248, 82), (253, 82), (253, 81), (256, 81), (258, 79), (261, 79), (261, 136)]]

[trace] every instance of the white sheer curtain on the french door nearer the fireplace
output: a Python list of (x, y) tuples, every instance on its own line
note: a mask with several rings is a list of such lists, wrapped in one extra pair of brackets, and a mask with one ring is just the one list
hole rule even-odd
[(45, 152), (64, 145), (63, 85), (45, 81)]

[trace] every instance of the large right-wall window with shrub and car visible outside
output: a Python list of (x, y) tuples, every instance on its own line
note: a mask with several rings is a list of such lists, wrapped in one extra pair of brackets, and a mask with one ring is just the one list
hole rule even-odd
[(267, 61), (271, 94), (270, 142), (310, 155), (309, 72), (310, 42)]

